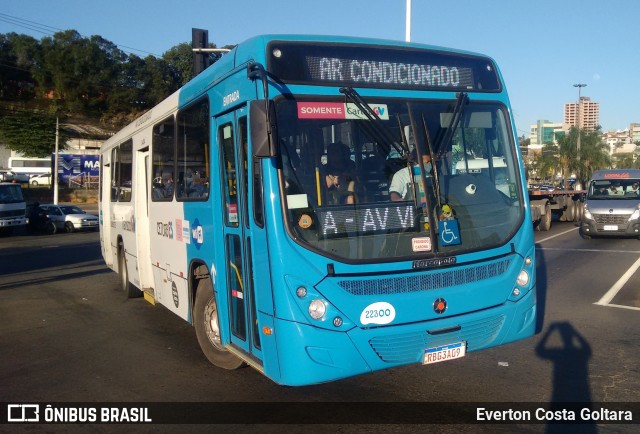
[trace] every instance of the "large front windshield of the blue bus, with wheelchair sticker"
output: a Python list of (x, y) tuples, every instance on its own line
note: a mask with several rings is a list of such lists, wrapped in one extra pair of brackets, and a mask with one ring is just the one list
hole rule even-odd
[(455, 101), (367, 103), (379, 121), (344, 99), (278, 102), (293, 239), (346, 262), (459, 254), (509, 239), (524, 199), (503, 105), (471, 102), (454, 123)]

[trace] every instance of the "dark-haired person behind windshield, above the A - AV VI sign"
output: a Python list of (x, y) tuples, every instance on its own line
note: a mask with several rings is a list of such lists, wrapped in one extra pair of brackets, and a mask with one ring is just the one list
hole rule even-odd
[(353, 178), (354, 164), (351, 151), (344, 143), (331, 143), (327, 147), (327, 164), (324, 166), (327, 205), (354, 204), (356, 187)]

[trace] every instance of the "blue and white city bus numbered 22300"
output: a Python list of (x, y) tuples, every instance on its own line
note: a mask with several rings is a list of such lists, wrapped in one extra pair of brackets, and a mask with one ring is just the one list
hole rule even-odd
[(221, 368), (307, 385), (462, 358), (535, 329), (515, 131), (489, 57), (258, 36), (105, 142), (102, 254)]

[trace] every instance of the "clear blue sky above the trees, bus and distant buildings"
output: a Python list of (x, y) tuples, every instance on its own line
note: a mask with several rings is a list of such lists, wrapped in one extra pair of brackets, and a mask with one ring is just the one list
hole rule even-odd
[[(209, 31), (222, 47), (266, 33), (404, 41), (407, 0), (0, 0), (0, 33), (41, 39), (99, 35), (124, 51), (161, 56)], [(640, 1), (412, 0), (411, 42), (491, 56), (506, 82), (518, 136), (563, 122), (581, 95), (600, 103), (604, 131), (640, 123)]]

